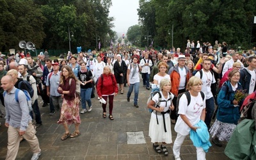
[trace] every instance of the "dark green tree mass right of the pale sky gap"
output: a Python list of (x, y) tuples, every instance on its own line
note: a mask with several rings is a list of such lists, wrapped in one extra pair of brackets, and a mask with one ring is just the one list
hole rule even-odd
[[(185, 48), (187, 40), (227, 42), (237, 47), (252, 47), (256, 42), (256, 15), (253, 0), (140, 0), (141, 32), (149, 31), (154, 45)], [(143, 33), (145, 34), (145, 33)]]

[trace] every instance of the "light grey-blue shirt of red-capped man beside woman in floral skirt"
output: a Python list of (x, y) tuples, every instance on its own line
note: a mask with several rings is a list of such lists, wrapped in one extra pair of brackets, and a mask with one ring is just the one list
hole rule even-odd
[(50, 87), (50, 95), (52, 96), (61, 96), (60, 93), (58, 93), (58, 87), (60, 85), (60, 71), (58, 71), (56, 74), (52, 72), (51, 79), (49, 79), (49, 76), (51, 75), (48, 74), (47, 79), (46, 79), (46, 86), (51, 86)]

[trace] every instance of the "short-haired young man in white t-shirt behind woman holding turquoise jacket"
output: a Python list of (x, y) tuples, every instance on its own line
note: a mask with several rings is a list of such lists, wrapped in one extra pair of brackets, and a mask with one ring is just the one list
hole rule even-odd
[(210, 129), (211, 118), (214, 113), (214, 98), (211, 92), (211, 84), (216, 83), (215, 78), (213, 76), (211, 68), (211, 60), (205, 59), (203, 61), (202, 70), (196, 72), (195, 76), (200, 77), (203, 82), (202, 92), (205, 93), (205, 106), (206, 106), (206, 115), (205, 115), (205, 124)]

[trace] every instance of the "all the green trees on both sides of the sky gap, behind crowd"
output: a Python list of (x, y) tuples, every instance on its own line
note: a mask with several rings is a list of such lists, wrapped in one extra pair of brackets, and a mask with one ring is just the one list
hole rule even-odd
[[(139, 0), (139, 24), (127, 30), (125, 42), (146, 47), (185, 48), (187, 40), (227, 42), (250, 49), (256, 44), (255, 0)], [(117, 40), (109, 17), (111, 0), (0, 0), (0, 51), (20, 50), (20, 40), (37, 49), (83, 51), (108, 47)], [(173, 26), (173, 39), (172, 39)], [(127, 39), (126, 39), (127, 38)], [(76, 50), (75, 50), (76, 51)]]

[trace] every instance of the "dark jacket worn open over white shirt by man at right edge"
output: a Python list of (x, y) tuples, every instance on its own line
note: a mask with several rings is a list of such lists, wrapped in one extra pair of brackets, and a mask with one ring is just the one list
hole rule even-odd
[[(240, 72), (240, 79), (239, 83), (241, 83), (242, 87), (245, 91), (245, 93), (249, 93), (249, 88), (250, 88), (250, 82), (251, 82), (251, 74), (248, 68), (243, 68)], [(254, 90), (256, 89), (256, 85), (254, 86)]]

